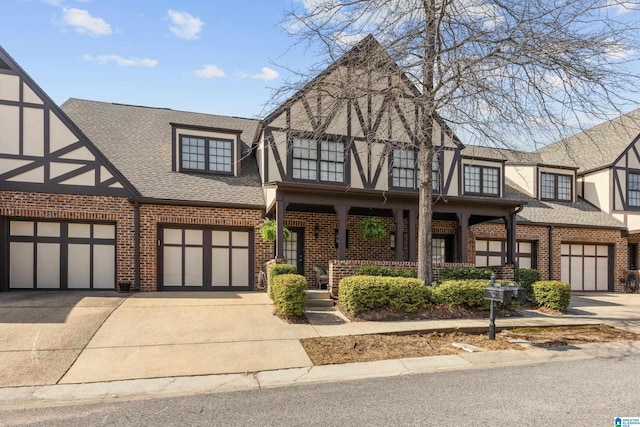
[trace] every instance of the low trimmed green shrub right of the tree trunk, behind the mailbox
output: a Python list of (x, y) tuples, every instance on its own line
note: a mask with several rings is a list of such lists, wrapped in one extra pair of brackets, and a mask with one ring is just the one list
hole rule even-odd
[(491, 301), (485, 299), (484, 288), (489, 283), (489, 280), (448, 280), (433, 289), (431, 299), (434, 304), (488, 310)]

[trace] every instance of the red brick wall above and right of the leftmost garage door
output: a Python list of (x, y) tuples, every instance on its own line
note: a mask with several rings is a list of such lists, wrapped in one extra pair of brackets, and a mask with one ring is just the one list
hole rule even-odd
[(0, 216), (115, 223), (116, 281), (134, 281), (134, 209), (125, 198), (0, 191)]

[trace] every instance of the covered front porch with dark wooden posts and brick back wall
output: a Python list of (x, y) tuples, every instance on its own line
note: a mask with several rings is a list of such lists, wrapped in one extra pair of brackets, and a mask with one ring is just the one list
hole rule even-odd
[[(469, 227), (499, 221), (507, 236), (506, 264), (514, 265), (515, 218), (521, 206), (519, 201), (497, 198), (434, 196), (434, 264), (473, 265), (470, 260), (474, 254), (468, 249)], [(280, 184), (267, 214), (275, 218), (278, 229), (275, 258), (297, 265), (310, 288), (318, 287), (314, 267), (329, 269), (331, 261), (407, 263), (408, 268), (417, 261), (419, 212), (415, 192), (383, 194), (331, 186), (309, 191), (309, 187)], [(358, 223), (367, 217), (381, 219), (388, 232), (383, 241), (360, 236)], [(294, 232), (293, 240), (281, 237), (284, 227)]]

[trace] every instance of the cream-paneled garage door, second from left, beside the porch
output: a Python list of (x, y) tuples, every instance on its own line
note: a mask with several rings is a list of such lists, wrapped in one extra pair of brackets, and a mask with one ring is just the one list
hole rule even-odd
[(165, 226), (160, 246), (160, 289), (253, 288), (253, 233), (248, 230)]

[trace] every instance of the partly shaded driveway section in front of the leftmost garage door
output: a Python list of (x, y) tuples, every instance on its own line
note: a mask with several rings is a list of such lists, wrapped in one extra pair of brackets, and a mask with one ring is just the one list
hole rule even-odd
[(115, 292), (0, 293), (0, 387), (57, 384), (123, 301)]

